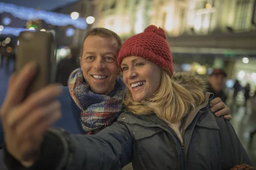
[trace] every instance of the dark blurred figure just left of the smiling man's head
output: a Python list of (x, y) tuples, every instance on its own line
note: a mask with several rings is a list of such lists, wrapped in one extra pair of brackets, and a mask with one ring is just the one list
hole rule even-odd
[(56, 82), (61, 83), (63, 86), (67, 86), (68, 78), (72, 71), (79, 68), (77, 59), (79, 58), (79, 48), (70, 48), (70, 54), (61, 59), (57, 65)]

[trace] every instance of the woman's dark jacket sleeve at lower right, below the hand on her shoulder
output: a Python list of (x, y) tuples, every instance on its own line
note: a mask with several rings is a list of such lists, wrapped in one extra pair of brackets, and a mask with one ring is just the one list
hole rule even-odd
[(222, 169), (229, 170), (239, 164), (253, 166), (231, 123), (223, 116), (216, 117), (216, 121), (220, 128), (221, 155), (223, 156)]

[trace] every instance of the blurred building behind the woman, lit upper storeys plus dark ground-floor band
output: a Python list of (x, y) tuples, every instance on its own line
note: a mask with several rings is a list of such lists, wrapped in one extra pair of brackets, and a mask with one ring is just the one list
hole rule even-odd
[(256, 0), (95, 0), (93, 27), (125, 40), (154, 24), (165, 29), (176, 63), (227, 68), (256, 57)]

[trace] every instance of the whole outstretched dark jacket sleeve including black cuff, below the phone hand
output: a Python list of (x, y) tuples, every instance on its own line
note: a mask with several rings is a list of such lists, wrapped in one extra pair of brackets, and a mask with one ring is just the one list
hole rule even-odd
[(49, 130), (32, 167), (21, 165), (7, 150), (4, 156), (9, 170), (121, 170), (131, 162), (132, 147), (125, 125), (115, 122), (97, 135)]

